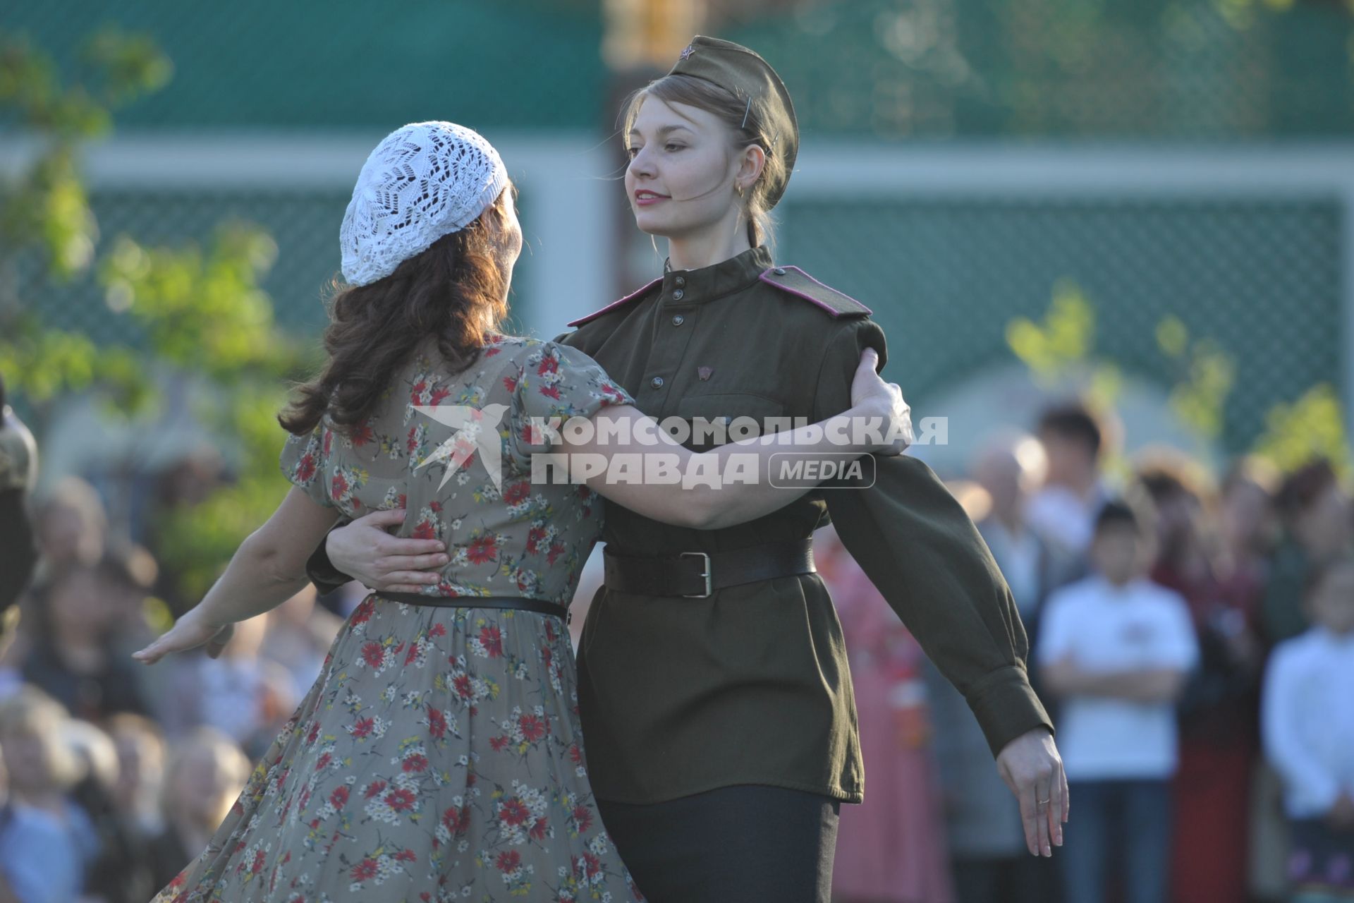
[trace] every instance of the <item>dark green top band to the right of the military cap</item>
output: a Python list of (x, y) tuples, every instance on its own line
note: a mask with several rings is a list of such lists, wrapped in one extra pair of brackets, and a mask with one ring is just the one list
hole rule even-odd
[[(718, 5), (718, 4), (716, 4)], [(806, 134), (1354, 133), (1354, 14), (1319, 0), (850, 0), (731, 23)]]

